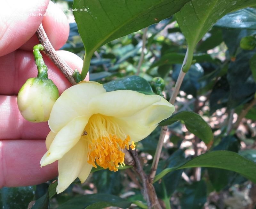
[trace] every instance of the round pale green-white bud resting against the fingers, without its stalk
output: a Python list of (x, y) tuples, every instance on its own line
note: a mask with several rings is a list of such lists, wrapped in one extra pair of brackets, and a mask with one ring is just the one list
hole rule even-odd
[(20, 88), (17, 102), (21, 115), (31, 122), (48, 121), (59, 97), (57, 86), (48, 78), (29, 78)]

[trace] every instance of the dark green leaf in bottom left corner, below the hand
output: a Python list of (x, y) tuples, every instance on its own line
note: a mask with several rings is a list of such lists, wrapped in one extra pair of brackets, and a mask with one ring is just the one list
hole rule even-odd
[(0, 208), (27, 209), (28, 204), (34, 199), (36, 187), (3, 187), (0, 189)]

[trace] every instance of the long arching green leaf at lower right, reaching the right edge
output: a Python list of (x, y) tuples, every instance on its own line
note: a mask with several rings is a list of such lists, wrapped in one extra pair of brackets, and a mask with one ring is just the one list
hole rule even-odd
[(213, 151), (195, 157), (179, 167), (166, 168), (156, 175), (154, 182), (167, 173), (183, 168), (209, 167), (235, 171), (256, 183), (256, 163), (231, 151)]

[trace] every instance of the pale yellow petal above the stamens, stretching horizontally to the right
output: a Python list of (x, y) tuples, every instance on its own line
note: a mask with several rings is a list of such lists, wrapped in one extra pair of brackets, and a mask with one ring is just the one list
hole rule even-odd
[(93, 97), (90, 112), (105, 116), (126, 117), (160, 101), (158, 95), (145, 95), (131, 90), (118, 90)]

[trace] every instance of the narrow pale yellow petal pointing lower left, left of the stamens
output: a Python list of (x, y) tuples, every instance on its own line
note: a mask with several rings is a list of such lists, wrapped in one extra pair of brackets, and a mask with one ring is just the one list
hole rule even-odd
[(45, 166), (59, 160), (65, 153), (75, 146), (81, 138), (87, 122), (87, 117), (77, 117), (63, 127), (53, 139), (49, 150), (42, 157), (40, 161), (41, 166)]

